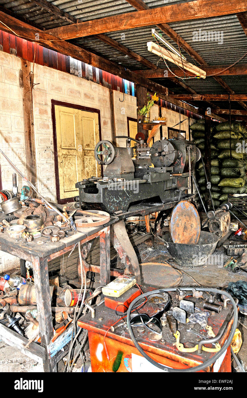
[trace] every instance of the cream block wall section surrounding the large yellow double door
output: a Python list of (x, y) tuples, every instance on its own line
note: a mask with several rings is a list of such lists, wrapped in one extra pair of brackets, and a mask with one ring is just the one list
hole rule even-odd
[(109, 89), (47, 66), (35, 64), (33, 111), (38, 190), (56, 201), (51, 100), (100, 110), (102, 139), (111, 140)]

